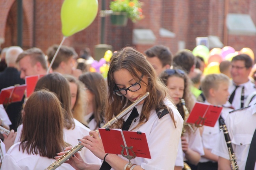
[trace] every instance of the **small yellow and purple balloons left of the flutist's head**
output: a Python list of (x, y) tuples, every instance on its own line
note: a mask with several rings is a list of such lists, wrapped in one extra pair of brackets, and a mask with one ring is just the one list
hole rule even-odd
[(101, 58), (99, 61), (94, 60), (92, 62), (91, 68), (89, 71), (102, 73), (102, 76), (106, 78), (109, 70), (109, 61), (112, 56), (113, 56), (112, 51), (110, 50), (106, 51), (103, 58)]

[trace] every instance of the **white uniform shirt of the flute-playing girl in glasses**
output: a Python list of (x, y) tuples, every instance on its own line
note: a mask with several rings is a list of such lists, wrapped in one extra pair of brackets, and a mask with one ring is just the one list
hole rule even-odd
[[(175, 128), (173, 120), (169, 114), (164, 115), (159, 119), (156, 110), (152, 110), (148, 121), (133, 130), (134, 132), (140, 131), (146, 133), (151, 159), (135, 157), (135, 159), (131, 160), (132, 163), (140, 165), (141, 168), (145, 170), (173, 170), (174, 168), (183, 119), (176, 107), (171, 104), (170, 101), (166, 104), (174, 113), (177, 128)], [(137, 106), (139, 115), (141, 114), (141, 110), (142, 105)], [(126, 115), (124, 120), (128, 119), (130, 113)], [(139, 122), (137, 120), (134, 121), (130, 126), (130, 130)], [(122, 155), (119, 156), (122, 159), (127, 160), (122, 157)], [(113, 168), (111, 170), (113, 170)]]

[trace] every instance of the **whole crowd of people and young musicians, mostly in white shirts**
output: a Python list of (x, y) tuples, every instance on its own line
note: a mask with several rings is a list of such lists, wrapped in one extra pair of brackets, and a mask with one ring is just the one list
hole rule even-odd
[[(93, 59), (87, 48), (78, 56), (61, 46), (49, 69), (57, 48), (49, 47), (46, 55), (39, 48), (2, 50), (0, 90), (25, 84), (26, 76), (42, 77), (30, 97), (0, 105), (1, 126), (10, 130), (0, 136), (1, 169), (43, 169), (79, 143), (84, 147), (59, 170), (256, 170), (256, 88), (249, 55), (223, 61), (221, 73), (204, 75), (204, 59), (189, 50), (173, 55), (163, 45), (143, 53), (126, 47), (111, 57), (104, 79), (89, 72), (86, 61)], [(109, 128), (145, 133), (151, 159), (128, 161), (121, 153), (106, 153), (95, 130), (147, 92)], [(214, 127), (186, 123), (196, 102), (222, 107)], [(223, 122), (230, 141), (220, 130)]]

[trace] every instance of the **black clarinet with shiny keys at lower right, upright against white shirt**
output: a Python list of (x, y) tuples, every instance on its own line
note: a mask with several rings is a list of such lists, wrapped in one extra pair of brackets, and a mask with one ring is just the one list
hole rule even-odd
[(228, 134), (228, 129), (227, 129), (226, 124), (223, 119), (221, 119), (221, 121), (220, 121), (220, 128), (221, 128), (221, 130), (223, 130), (223, 133), (225, 136), (225, 141), (228, 146), (228, 153), (229, 153), (229, 157), (230, 157), (231, 168), (232, 168), (232, 170), (239, 170), (239, 167), (238, 167), (237, 161), (236, 161), (236, 155), (234, 153), (232, 143), (230, 140), (230, 136)]

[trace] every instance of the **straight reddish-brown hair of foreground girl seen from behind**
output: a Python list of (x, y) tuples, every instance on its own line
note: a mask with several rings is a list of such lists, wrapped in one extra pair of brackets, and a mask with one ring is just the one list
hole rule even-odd
[(19, 149), (50, 159), (62, 152), (67, 146), (63, 140), (62, 112), (61, 104), (52, 92), (34, 92), (24, 107)]

